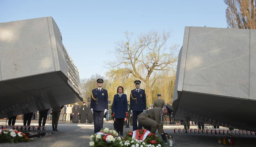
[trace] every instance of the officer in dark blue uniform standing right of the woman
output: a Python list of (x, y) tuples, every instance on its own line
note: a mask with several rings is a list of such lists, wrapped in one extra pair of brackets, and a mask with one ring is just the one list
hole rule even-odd
[(136, 89), (131, 90), (130, 107), (133, 113), (133, 130), (142, 129), (142, 126), (137, 125), (137, 117), (140, 113), (146, 110), (146, 94), (145, 90), (140, 89), (140, 80), (134, 81)]

